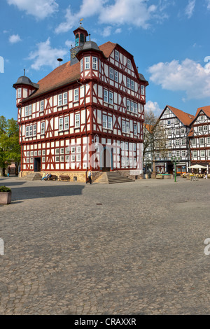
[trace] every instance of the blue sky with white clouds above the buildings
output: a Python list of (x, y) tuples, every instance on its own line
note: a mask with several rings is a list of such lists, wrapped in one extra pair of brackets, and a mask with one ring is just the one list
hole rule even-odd
[[(13, 83), (34, 82), (69, 61), (73, 29), (134, 55), (149, 82), (146, 109), (195, 114), (210, 105), (210, 0), (1, 0), (0, 116), (17, 119)], [(63, 63), (64, 63), (63, 62)], [(3, 71), (3, 72), (2, 72)]]

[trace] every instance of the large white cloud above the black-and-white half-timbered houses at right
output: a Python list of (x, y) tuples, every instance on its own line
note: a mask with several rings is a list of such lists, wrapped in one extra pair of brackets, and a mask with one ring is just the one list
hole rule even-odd
[(172, 62), (154, 64), (148, 69), (151, 81), (161, 85), (162, 89), (186, 92), (188, 99), (210, 97), (209, 64), (202, 66), (192, 59), (184, 59), (179, 63)]

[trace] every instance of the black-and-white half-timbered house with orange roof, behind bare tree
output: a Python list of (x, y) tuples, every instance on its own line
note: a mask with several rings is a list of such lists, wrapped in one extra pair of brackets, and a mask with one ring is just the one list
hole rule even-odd
[(162, 111), (159, 123), (162, 136), (155, 141), (156, 172), (173, 173), (172, 157), (179, 158), (176, 172), (188, 172), (190, 148), (188, 134), (194, 116), (167, 105)]

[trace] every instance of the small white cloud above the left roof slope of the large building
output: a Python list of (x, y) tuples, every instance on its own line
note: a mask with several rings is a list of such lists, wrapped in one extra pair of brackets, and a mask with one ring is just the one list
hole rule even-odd
[(52, 48), (50, 38), (45, 42), (38, 43), (37, 50), (31, 51), (27, 59), (34, 60), (31, 69), (39, 70), (42, 66), (57, 67), (57, 58), (63, 58), (68, 52), (66, 49)]

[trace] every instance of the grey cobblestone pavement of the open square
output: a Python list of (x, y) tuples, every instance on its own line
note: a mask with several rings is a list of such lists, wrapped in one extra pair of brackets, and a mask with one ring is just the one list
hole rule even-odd
[(210, 180), (1, 179), (0, 314), (210, 314)]

